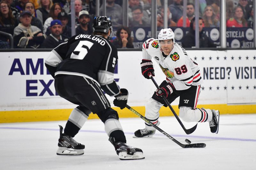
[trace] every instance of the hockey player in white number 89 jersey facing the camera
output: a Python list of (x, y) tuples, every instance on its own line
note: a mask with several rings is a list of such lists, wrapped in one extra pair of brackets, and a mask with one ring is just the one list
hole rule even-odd
[[(159, 110), (162, 106), (167, 107), (162, 96), (169, 103), (180, 97), (180, 118), (185, 122), (209, 122), (211, 132), (217, 134), (220, 113), (218, 110), (196, 108), (202, 83), (200, 68), (186, 50), (175, 43), (174, 36), (171, 28), (162, 29), (158, 39), (148, 39), (142, 45), (142, 75), (147, 79), (150, 75), (155, 76), (151, 61), (154, 58), (166, 76), (160, 89), (146, 103), (145, 117), (159, 126)], [(134, 137), (152, 137), (155, 132), (154, 127), (145, 123), (145, 129), (135, 131)]]

